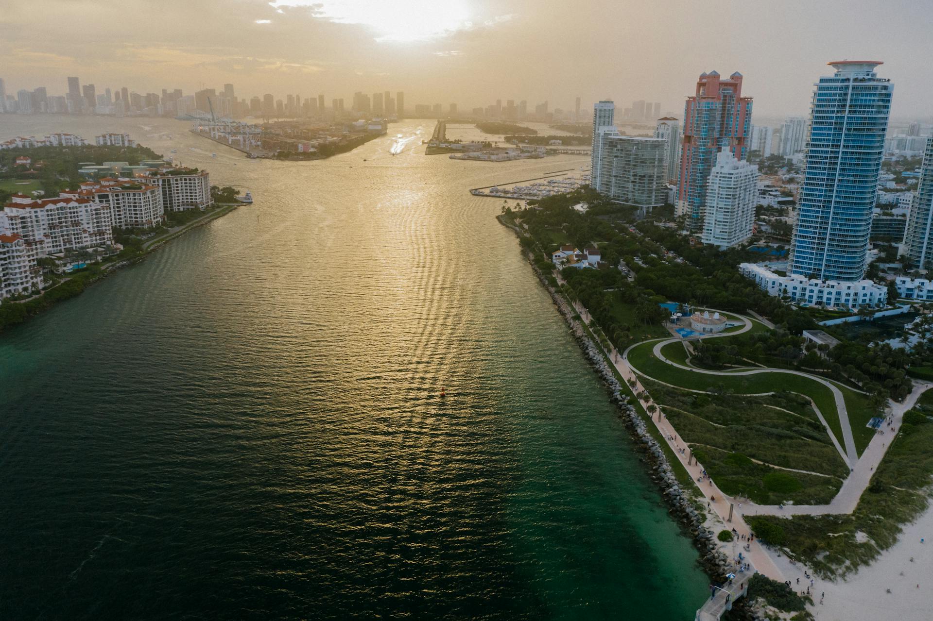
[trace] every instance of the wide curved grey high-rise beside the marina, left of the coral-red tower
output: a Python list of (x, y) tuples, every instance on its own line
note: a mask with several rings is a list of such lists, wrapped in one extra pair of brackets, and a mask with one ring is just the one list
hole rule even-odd
[(599, 137), (599, 191), (627, 205), (663, 205), (667, 143), (661, 138), (623, 136), (614, 127), (600, 128)]

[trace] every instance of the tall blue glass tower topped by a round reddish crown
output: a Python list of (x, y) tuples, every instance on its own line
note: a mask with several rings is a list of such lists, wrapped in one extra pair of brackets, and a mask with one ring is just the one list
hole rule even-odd
[(811, 104), (806, 171), (788, 271), (824, 281), (865, 274), (894, 85), (879, 61), (829, 62)]

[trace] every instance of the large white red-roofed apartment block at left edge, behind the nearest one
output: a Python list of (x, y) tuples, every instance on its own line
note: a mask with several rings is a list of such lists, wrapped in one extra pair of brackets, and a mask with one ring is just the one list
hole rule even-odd
[(106, 205), (67, 196), (33, 200), (14, 194), (0, 214), (0, 233), (20, 235), (37, 256), (113, 243)]

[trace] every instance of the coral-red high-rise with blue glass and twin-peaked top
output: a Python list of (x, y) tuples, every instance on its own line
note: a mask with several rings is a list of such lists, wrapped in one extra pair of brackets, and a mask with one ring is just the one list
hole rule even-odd
[(703, 229), (706, 182), (722, 147), (735, 159), (747, 157), (745, 136), (752, 120), (752, 98), (742, 96), (742, 74), (722, 79), (701, 74), (696, 92), (684, 105), (676, 214), (687, 216), (690, 230)]

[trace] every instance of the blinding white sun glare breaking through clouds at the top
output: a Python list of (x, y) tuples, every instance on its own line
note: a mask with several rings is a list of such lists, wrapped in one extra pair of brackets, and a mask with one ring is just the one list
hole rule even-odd
[(277, 0), (269, 4), (276, 8), (314, 5), (323, 18), (368, 26), (378, 41), (427, 41), (472, 25), (464, 0)]

